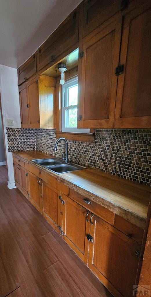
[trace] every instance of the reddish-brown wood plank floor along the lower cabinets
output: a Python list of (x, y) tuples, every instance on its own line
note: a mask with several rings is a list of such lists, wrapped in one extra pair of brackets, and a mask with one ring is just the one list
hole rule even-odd
[(112, 297), (0, 166), (0, 297)]

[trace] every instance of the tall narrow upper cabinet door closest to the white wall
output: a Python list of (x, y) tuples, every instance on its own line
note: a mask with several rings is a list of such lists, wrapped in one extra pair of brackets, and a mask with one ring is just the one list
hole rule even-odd
[(27, 98), (27, 88), (26, 83), (19, 87), (19, 101), (20, 101), (20, 118), (21, 118), (21, 127), (29, 127), (28, 119), (28, 98)]

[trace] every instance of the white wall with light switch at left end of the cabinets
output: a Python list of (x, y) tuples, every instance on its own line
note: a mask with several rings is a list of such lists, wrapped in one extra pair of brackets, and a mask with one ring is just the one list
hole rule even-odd
[(12, 189), (15, 187), (13, 161), (12, 153), (8, 152), (5, 128), (8, 127), (7, 120), (13, 120), (13, 126), (11, 127), (21, 127), (17, 69), (0, 65), (0, 92), (8, 165), (8, 187), (9, 189)]

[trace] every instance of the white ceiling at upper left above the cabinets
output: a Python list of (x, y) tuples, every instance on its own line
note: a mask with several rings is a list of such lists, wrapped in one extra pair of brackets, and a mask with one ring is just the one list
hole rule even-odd
[(0, 64), (23, 64), (80, 2), (0, 0)]

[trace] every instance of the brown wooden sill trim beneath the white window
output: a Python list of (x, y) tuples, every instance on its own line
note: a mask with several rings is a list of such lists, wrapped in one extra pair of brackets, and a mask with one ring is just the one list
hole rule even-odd
[[(91, 132), (92, 129), (90, 129)], [(84, 141), (84, 142), (93, 142), (94, 143), (94, 134), (95, 130), (93, 129), (91, 133), (70, 133), (70, 132), (56, 132), (56, 138), (64, 137), (67, 140), (75, 141)]]

